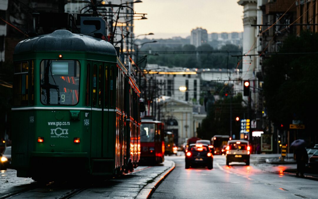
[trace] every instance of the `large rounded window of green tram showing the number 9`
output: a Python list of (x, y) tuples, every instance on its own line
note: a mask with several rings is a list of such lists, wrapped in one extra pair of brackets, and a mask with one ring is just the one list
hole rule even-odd
[(79, 101), (79, 61), (41, 61), (41, 102), (75, 105)]

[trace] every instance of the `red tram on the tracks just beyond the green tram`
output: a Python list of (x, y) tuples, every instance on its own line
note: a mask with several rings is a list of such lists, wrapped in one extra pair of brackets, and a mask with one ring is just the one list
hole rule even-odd
[(164, 124), (161, 121), (142, 119), (140, 126), (140, 162), (158, 164), (164, 161)]

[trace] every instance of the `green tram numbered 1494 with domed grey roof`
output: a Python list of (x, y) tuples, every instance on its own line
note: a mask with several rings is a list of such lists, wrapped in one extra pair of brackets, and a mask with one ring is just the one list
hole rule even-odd
[(12, 165), (18, 177), (109, 176), (140, 160), (140, 91), (109, 42), (67, 30), (13, 54)]

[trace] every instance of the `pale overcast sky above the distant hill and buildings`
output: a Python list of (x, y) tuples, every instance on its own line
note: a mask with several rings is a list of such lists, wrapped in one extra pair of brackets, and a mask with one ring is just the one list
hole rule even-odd
[[(242, 32), (243, 6), (238, 0), (142, 0), (134, 4), (136, 13), (148, 19), (134, 20), (135, 35), (153, 32), (152, 39), (185, 38), (192, 29), (211, 32)], [(140, 38), (142, 38), (141, 36)]]

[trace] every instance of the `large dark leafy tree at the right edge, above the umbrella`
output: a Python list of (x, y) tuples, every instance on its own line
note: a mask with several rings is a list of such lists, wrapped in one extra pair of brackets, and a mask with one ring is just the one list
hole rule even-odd
[(294, 54), (272, 56), (264, 64), (267, 115), (277, 125), (302, 120), (308, 129), (317, 123), (318, 56), (300, 54), (308, 52), (318, 52), (317, 33), (289, 36), (279, 53)]

